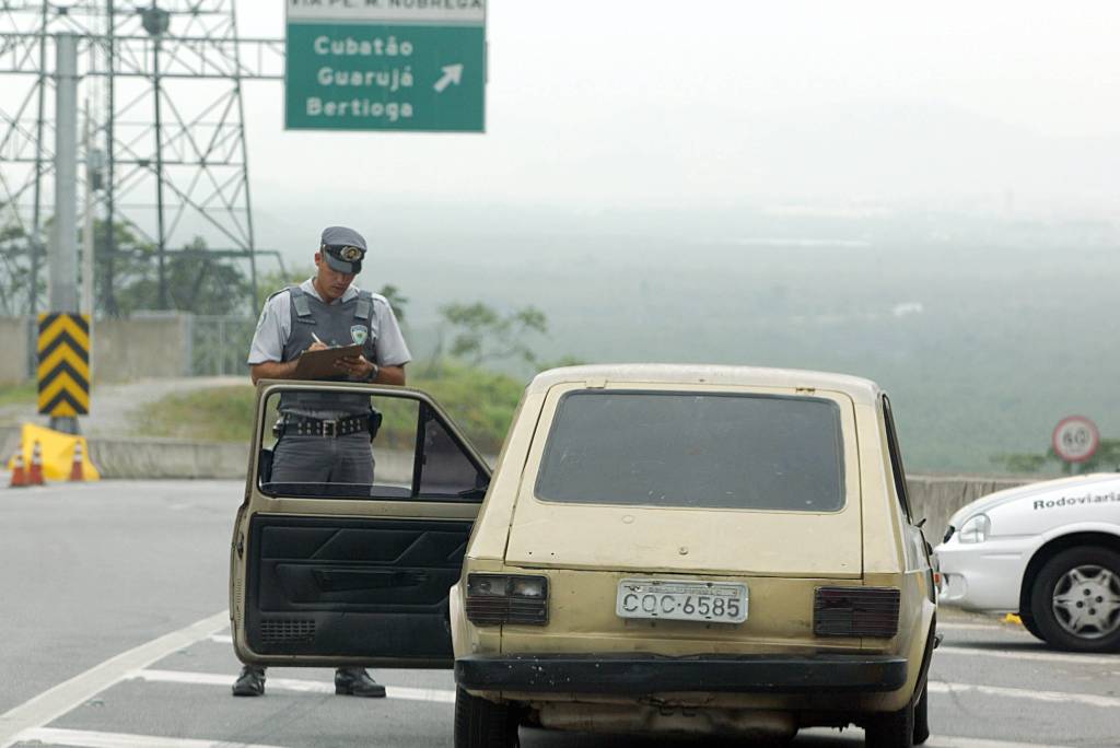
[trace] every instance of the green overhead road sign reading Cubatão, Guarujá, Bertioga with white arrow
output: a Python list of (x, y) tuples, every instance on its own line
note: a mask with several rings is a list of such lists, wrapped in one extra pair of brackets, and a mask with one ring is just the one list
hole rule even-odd
[(284, 127), (485, 129), (485, 0), (287, 0)]

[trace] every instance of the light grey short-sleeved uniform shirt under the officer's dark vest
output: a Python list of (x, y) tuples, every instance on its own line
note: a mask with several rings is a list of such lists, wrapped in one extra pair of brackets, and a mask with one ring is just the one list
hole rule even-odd
[[(319, 301), (324, 301), (315, 283), (308, 279), (299, 284), (300, 290)], [(358, 290), (351, 286), (335, 303), (345, 303), (356, 297)], [(377, 366), (401, 366), (412, 361), (412, 354), (404, 343), (401, 327), (393, 314), (393, 308), (389, 300), (380, 293), (370, 294), (373, 301), (373, 310), (370, 317), (370, 337), (373, 339), (373, 363)], [(324, 301), (325, 302), (325, 301)], [(283, 349), (291, 337), (291, 293), (280, 291), (269, 297), (261, 310), (261, 317), (256, 321), (256, 333), (253, 335), (252, 345), (249, 347), (250, 366), (263, 364), (265, 362), (283, 362)], [(324, 340), (330, 345), (330, 340)], [(349, 343), (346, 340), (345, 343)], [(308, 412), (304, 415), (315, 418), (338, 418), (342, 411)]]

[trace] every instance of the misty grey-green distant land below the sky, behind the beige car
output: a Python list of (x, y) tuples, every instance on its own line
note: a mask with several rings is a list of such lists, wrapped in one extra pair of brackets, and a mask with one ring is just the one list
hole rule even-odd
[(893, 230), (865, 232), (866, 244), (849, 235), (810, 246), (491, 237), (500, 249), (461, 241), (454, 259), (416, 253), (371, 278), (411, 298), (409, 335), (420, 355), (435, 345), (440, 303), (484, 299), (542, 308), (551, 328), (538, 342), (543, 358), (869, 376), (893, 396), (915, 471), (990, 473), (996, 455), (1045, 451), (1070, 413), (1120, 434), (1116, 245), (1093, 226), (1065, 249), (983, 243), (951, 228), (940, 242), (906, 243)]

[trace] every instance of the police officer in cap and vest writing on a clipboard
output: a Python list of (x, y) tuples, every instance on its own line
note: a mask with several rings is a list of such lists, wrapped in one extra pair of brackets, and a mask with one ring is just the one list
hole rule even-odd
[[(353, 228), (328, 226), (323, 231), (315, 253), (315, 277), (273, 293), (264, 302), (249, 350), (254, 383), (290, 378), (305, 350), (358, 344), (361, 355), (336, 364), (337, 378), (404, 384), (404, 365), (412, 356), (392, 307), (383, 296), (352, 284), (362, 271), (365, 253), (365, 240)], [(373, 483), (367, 395), (284, 393), (279, 411), (280, 440), (273, 450), (272, 483)], [(233, 694), (262, 693), (264, 668), (244, 665)], [(385, 688), (365, 668), (339, 667), (335, 693), (384, 696)]]

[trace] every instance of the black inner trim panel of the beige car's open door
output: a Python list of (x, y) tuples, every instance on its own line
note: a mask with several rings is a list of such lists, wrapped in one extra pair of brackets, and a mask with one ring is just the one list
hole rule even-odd
[(259, 655), (450, 660), (447, 596), (470, 526), (254, 516), (250, 646)]

